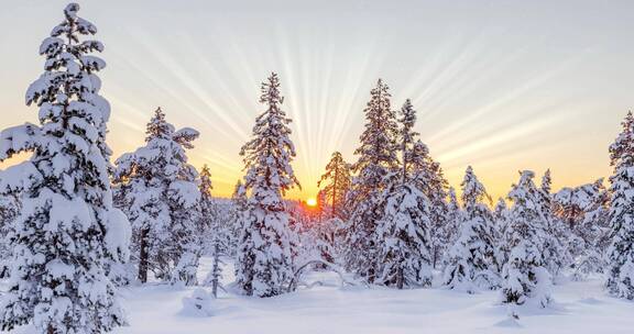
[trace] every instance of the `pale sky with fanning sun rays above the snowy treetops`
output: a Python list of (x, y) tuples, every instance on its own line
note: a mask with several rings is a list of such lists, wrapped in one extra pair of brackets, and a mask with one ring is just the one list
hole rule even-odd
[[(67, 2), (0, 0), (0, 129), (36, 122), (24, 105), (41, 41)], [(554, 188), (611, 172), (608, 146), (634, 108), (634, 1), (79, 1), (108, 67), (101, 93), (114, 157), (143, 144), (156, 107), (200, 131), (189, 162), (217, 196), (243, 175), (260, 84), (280, 75), (302, 190), (330, 155), (354, 162), (378, 78), (392, 107), (412, 99), (416, 131), (453, 187), (471, 165), (493, 198), (518, 170)], [(3, 166), (12, 162), (4, 163)]]

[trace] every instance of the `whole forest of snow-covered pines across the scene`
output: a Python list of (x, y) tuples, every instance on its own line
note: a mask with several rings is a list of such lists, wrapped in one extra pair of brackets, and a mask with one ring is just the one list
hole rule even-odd
[[(606, 147), (606, 180), (553, 191), (550, 171), (521, 170), (507, 196), (492, 199), (469, 166), (458, 197), (414, 130), (416, 107), (395, 105), (378, 79), (359, 108), (365, 123), (353, 162), (334, 152), (317, 202), (307, 204), (285, 198), (300, 182), (284, 86), (271, 73), (240, 151), (243, 178), (225, 199), (214, 194), (212, 170), (188, 163), (200, 133), (176, 129), (170, 110), (149, 111), (145, 141), (112, 156), (108, 121), (117, 111), (98, 77), (105, 46), (78, 11), (68, 4), (40, 45), (44, 70), (25, 93), (40, 122), (0, 133), (0, 160), (26, 154), (0, 171), (3, 331), (134, 333), (124, 300), (134, 299), (130, 291), (162, 288), (181, 291), (185, 319), (231, 312), (231, 298), (298, 296), (300, 304), (300, 293), (332, 286), (494, 296), (485, 303), (504, 308), (503, 330), (522, 326), (526, 310), (558, 310), (558, 289), (586, 281), (634, 310), (631, 112)], [(207, 329), (178, 326), (145, 331)]]

